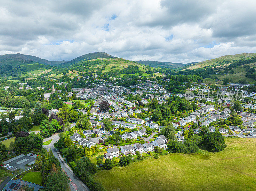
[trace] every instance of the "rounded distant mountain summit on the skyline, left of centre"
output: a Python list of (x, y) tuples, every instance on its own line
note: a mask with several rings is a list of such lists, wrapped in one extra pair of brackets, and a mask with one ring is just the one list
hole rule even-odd
[(115, 58), (114, 56), (111, 56), (105, 52), (93, 52), (93, 53), (89, 53), (86, 55), (82, 55), (79, 56), (69, 62), (64, 62), (64, 63), (60, 63), (58, 65), (58, 67), (60, 68), (65, 68), (67, 66), (70, 66), (76, 62), (81, 62), (81, 61), (87, 61), (87, 60), (93, 60), (93, 59), (97, 59), (97, 58)]

